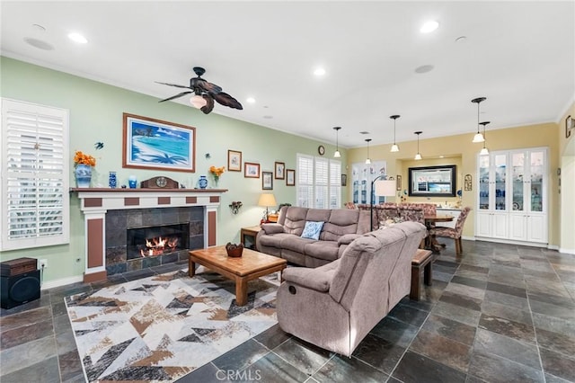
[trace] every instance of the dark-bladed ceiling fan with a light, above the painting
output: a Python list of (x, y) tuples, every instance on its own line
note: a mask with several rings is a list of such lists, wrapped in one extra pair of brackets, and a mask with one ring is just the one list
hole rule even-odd
[(160, 100), (159, 102), (170, 101), (186, 94), (194, 94), (190, 99), (191, 104), (194, 107), (198, 108), (200, 111), (203, 111), (205, 114), (208, 114), (210, 111), (214, 109), (214, 100), (216, 100), (218, 103), (221, 103), (224, 106), (243, 110), (242, 104), (237, 100), (235, 100), (234, 97), (232, 97), (231, 95), (222, 92), (222, 88), (220, 86), (208, 83), (208, 81), (201, 78), (201, 76), (204, 73), (206, 73), (206, 69), (204, 69), (203, 67), (194, 67), (193, 70), (194, 73), (197, 75), (197, 77), (190, 78), (190, 86), (160, 83), (156, 81), (157, 84), (191, 89), (190, 91), (173, 95), (172, 97)]

